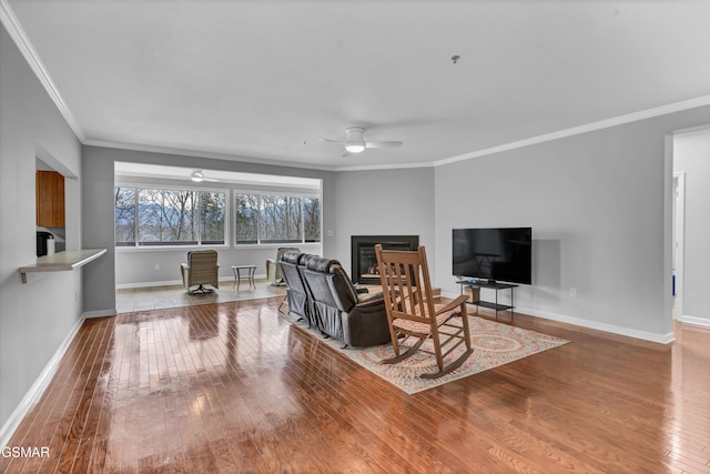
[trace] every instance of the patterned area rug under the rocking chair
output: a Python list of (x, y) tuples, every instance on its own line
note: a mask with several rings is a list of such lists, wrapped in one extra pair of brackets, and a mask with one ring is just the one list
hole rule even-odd
[[(341, 349), (343, 345), (341, 341), (323, 339), (304, 323), (292, 323), (408, 394), (467, 377), (569, 342), (478, 316), (469, 315), (468, 317), (474, 353), (456, 371), (434, 380), (419, 377), (419, 374), (424, 372), (437, 371), (436, 360), (433, 354), (418, 351), (398, 364), (382, 364), (379, 361), (394, 356), (392, 344), (374, 347)], [(427, 344), (429, 342), (425, 343), (423, 347), (426, 347)], [(459, 350), (463, 351), (462, 346), (449, 354), (449, 357), (455, 359), (460, 353)]]

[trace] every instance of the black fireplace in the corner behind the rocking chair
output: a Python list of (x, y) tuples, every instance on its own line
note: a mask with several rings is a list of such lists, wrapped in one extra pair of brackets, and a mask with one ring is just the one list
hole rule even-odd
[(417, 250), (419, 235), (353, 235), (351, 236), (353, 283), (379, 284), (375, 245), (383, 249)]

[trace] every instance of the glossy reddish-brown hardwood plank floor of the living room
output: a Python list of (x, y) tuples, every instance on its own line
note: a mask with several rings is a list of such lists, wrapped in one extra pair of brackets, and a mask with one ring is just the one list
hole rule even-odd
[[(561, 347), (407, 395), (281, 297), (88, 320), (8, 473), (710, 473), (710, 330), (659, 345), (516, 314)], [(475, 354), (474, 354), (475, 356)]]

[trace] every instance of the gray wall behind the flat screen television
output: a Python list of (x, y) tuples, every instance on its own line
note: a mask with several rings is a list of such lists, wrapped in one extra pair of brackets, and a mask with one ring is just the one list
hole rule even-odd
[(534, 275), (516, 293), (520, 311), (669, 340), (667, 133), (707, 123), (710, 107), (436, 168), (436, 280), (459, 291), (453, 228), (529, 225)]

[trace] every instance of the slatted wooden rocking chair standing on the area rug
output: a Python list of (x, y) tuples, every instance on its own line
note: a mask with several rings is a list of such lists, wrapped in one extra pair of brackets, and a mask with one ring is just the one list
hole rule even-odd
[[(377, 266), (387, 309), (389, 333), (395, 356), (382, 361), (384, 364), (395, 364), (414, 355), (428, 339), (434, 344), (433, 354), (436, 356), (438, 372), (424, 373), (423, 379), (437, 379), (459, 367), (474, 352), (470, 346), (468, 331), (468, 315), (466, 313), (466, 295), (462, 295), (450, 303), (434, 304), (429, 270), (426, 263), (424, 246), (416, 252), (383, 250), (375, 245)], [(460, 319), (460, 325), (454, 324)], [(404, 340), (399, 337), (404, 336)], [(400, 354), (400, 345), (408, 337), (418, 341), (406, 347)], [(444, 365), (444, 360), (460, 344), (466, 350), (456, 360)], [(424, 351), (424, 350), (423, 350)], [(429, 352), (429, 351), (425, 351)]]

